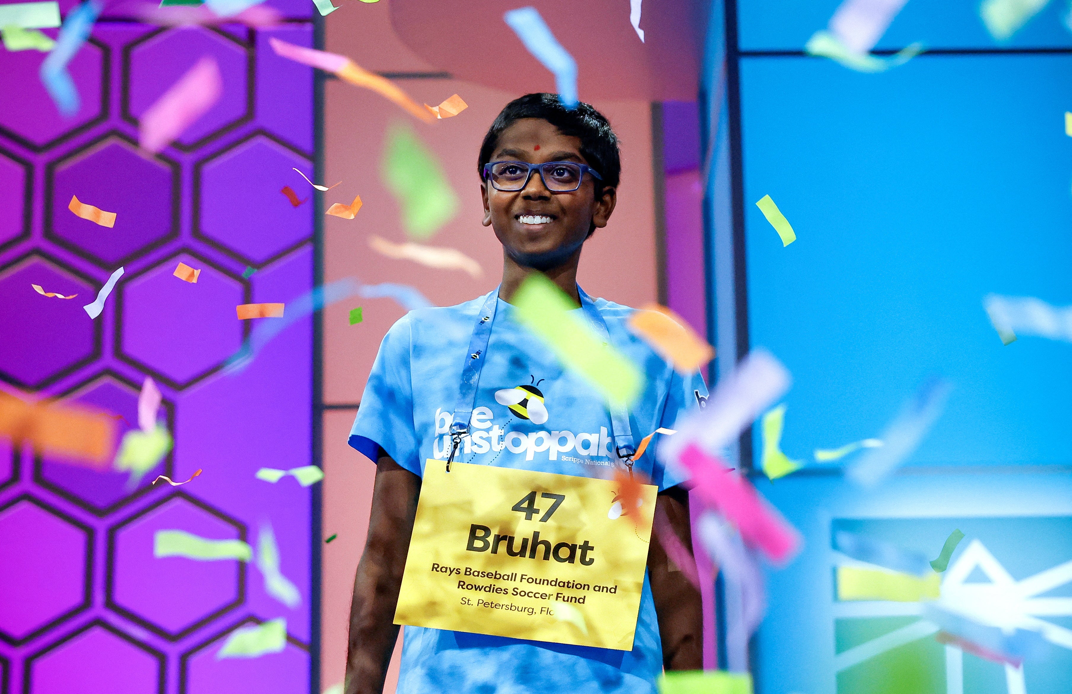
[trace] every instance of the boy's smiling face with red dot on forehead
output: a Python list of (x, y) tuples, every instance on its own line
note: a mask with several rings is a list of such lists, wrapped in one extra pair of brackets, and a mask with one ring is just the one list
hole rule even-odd
[[(523, 118), (504, 130), (491, 161), (592, 163), (581, 156), (579, 137), (563, 135), (541, 118)], [(592, 224), (606, 226), (614, 210), (614, 189), (604, 189), (596, 200), (596, 182), (585, 174), (576, 191), (551, 192), (538, 171), (532, 173), (520, 191), (495, 190), (490, 181), (485, 181), (480, 187), (483, 225), (495, 230), (506, 253), (520, 265), (537, 269), (554, 267), (580, 249)]]

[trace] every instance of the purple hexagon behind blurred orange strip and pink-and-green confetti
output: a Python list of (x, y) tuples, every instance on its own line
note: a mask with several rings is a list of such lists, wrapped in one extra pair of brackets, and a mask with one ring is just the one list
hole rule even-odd
[[(137, 429), (138, 388), (123, 383), (114, 374), (105, 374), (93, 379), (68, 395), (64, 400), (100, 408), (117, 417), (117, 444), (124, 433)], [(167, 418), (169, 403), (162, 407), (162, 416)], [(173, 427), (168, 427), (172, 429)], [(146, 472), (145, 476), (133, 489), (129, 487), (129, 472), (117, 470), (96, 470), (66, 464), (50, 460), (47, 456), (38, 461), (38, 481), (57, 493), (71, 499), (74, 503), (84, 505), (93, 513), (114, 511), (122, 503), (130, 501), (138, 492), (151, 487), (157, 475), (170, 475), (172, 456), (167, 456), (155, 468)]]

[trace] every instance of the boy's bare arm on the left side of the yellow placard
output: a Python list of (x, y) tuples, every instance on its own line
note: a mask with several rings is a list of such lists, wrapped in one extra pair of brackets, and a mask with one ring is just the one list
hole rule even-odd
[(420, 477), (381, 449), (364, 552), (354, 578), (349, 608), (345, 694), (381, 694), (398, 640), (394, 607), (410, 535), (417, 514)]

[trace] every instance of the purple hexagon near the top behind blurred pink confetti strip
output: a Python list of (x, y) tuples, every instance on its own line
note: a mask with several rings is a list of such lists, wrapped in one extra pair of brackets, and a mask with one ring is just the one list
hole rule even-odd
[(130, 48), (130, 103), (126, 110), (140, 118), (160, 97), (205, 56), (215, 58), (223, 93), (208, 112), (179, 137), (193, 145), (248, 114), (245, 47), (224, 33), (204, 27), (180, 27), (149, 36)]

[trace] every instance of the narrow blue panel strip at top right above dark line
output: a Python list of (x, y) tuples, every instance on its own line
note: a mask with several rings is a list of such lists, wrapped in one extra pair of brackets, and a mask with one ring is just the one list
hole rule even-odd
[[(803, 50), (812, 34), (825, 29), (840, 0), (740, 0), (738, 31), (742, 50)], [(1069, 9), (1052, 0), (1011, 39), (997, 42), (979, 17), (979, 0), (909, 0), (876, 48), (904, 48), (921, 41), (929, 48), (1072, 46), (1062, 21)]]

